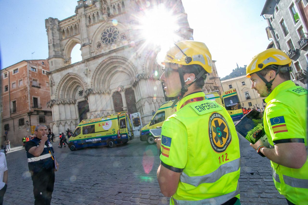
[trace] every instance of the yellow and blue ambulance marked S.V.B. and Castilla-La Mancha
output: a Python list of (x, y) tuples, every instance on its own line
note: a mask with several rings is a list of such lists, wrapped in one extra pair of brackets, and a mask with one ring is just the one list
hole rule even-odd
[(81, 121), (69, 139), (69, 147), (74, 151), (83, 147), (127, 143), (134, 139), (132, 125), (127, 112), (86, 119)]

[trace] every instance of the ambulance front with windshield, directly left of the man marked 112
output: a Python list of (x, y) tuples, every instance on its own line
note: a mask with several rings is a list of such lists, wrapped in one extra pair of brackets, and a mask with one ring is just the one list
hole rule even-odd
[(161, 127), (164, 121), (176, 112), (176, 105), (171, 108), (174, 100), (164, 102), (156, 111), (150, 122), (140, 129), (140, 141), (146, 141), (148, 144), (154, 144), (155, 137), (150, 133), (150, 129)]

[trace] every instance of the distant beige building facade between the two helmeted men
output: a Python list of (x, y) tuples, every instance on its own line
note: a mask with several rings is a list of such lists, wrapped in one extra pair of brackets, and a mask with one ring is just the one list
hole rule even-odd
[(247, 109), (249, 107), (251, 109), (259, 107), (262, 110), (263, 106), (266, 105), (263, 102), (265, 98), (259, 97), (257, 92), (250, 88), (251, 81), (246, 75), (221, 81), (221, 85), (224, 91), (232, 88), (236, 89), (242, 107)]

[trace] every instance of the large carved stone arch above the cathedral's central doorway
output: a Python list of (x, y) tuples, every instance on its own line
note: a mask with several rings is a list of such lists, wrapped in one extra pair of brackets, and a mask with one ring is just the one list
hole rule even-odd
[(109, 88), (110, 77), (119, 71), (127, 73), (131, 79), (137, 75), (137, 68), (130, 60), (122, 56), (111, 56), (104, 59), (95, 68), (91, 79), (91, 87), (94, 89)]

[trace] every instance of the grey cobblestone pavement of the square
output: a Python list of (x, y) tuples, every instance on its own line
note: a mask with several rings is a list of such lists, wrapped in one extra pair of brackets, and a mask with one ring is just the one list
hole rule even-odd
[[(56, 143), (54, 148), (60, 166), (52, 204), (169, 204), (156, 179), (160, 160), (154, 145), (135, 138), (115, 148), (70, 151), (68, 147), (58, 148)], [(6, 160), (9, 179), (4, 204), (34, 204), (25, 150), (15, 148), (7, 153)], [(242, 204), (286, 204), (270, 172), (269, 160), (257, 155), (242, 139)]]

